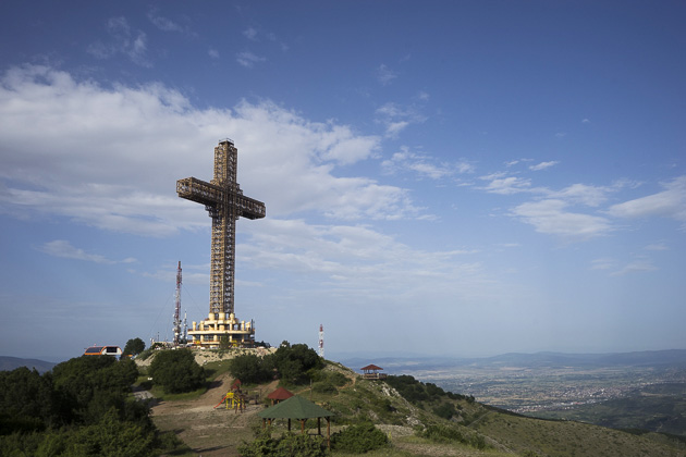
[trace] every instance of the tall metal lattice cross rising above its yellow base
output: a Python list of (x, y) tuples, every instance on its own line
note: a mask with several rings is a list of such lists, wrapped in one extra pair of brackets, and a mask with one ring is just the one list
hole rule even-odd
[(176, 194), (198, 203), (212, 218), (212, 258), (210, 267), (210, 312), (217, 318), (233, 310), (236, 220), (265, 217), (265, 203), (245, 197), (236, 183), (238, 150), (229, 138), (215, 148), (215, 178), (209, 183), (195, 177), (176, 181)]

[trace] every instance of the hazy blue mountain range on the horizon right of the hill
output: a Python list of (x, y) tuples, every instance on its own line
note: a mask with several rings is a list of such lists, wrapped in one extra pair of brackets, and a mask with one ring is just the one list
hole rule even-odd
[(565, 353), (511, 353), (485, 358), (450, 358), (450, 357), (353, 357), (340, 360), (341, 363), (356, 369), (369, 363), (384, 368), (394, 373), (403, 369), (439, 369), (449, 367), (520, 367), (520, 368), (598, 368), (598, 367), (686, 367), (686, 349), (644, 350), (636, 353), (613, 354), (565, 354)]

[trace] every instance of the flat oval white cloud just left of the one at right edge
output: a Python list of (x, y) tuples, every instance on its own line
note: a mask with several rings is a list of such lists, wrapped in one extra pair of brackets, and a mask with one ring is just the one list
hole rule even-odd
[(569, 212), (566, 207), (567, 203), (563, 200), (548, 199), (522, 203), (512, 210), (512, 214), (534, 225), (539, 233), (571, 240), (592, 238), (612, 230), (607, 219)]

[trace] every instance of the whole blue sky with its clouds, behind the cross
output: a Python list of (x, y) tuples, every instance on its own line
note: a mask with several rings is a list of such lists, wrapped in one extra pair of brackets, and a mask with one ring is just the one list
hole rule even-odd
[(681, 1), (0, 5), (2, 355), (208, 312), (175, 182), (238, 183), (236, 314), (350, 354), (686, 348)]

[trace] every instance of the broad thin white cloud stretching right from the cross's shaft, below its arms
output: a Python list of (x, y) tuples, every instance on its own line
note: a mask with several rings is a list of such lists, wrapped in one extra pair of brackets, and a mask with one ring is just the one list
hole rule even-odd
[(241, 249), (242, 256), (260, 270), (290, 272), (295, 281), (307, 277), (310, 287), (316, 279), (328, 294), (345, 291), (367, 300), (397, 295), (399, 291), (418, 297), (449, 289), (454, 298), (486, 282), (481, 265), (465, 259), (473, 250), (413, 249), (359, 225), (270, 219)]

